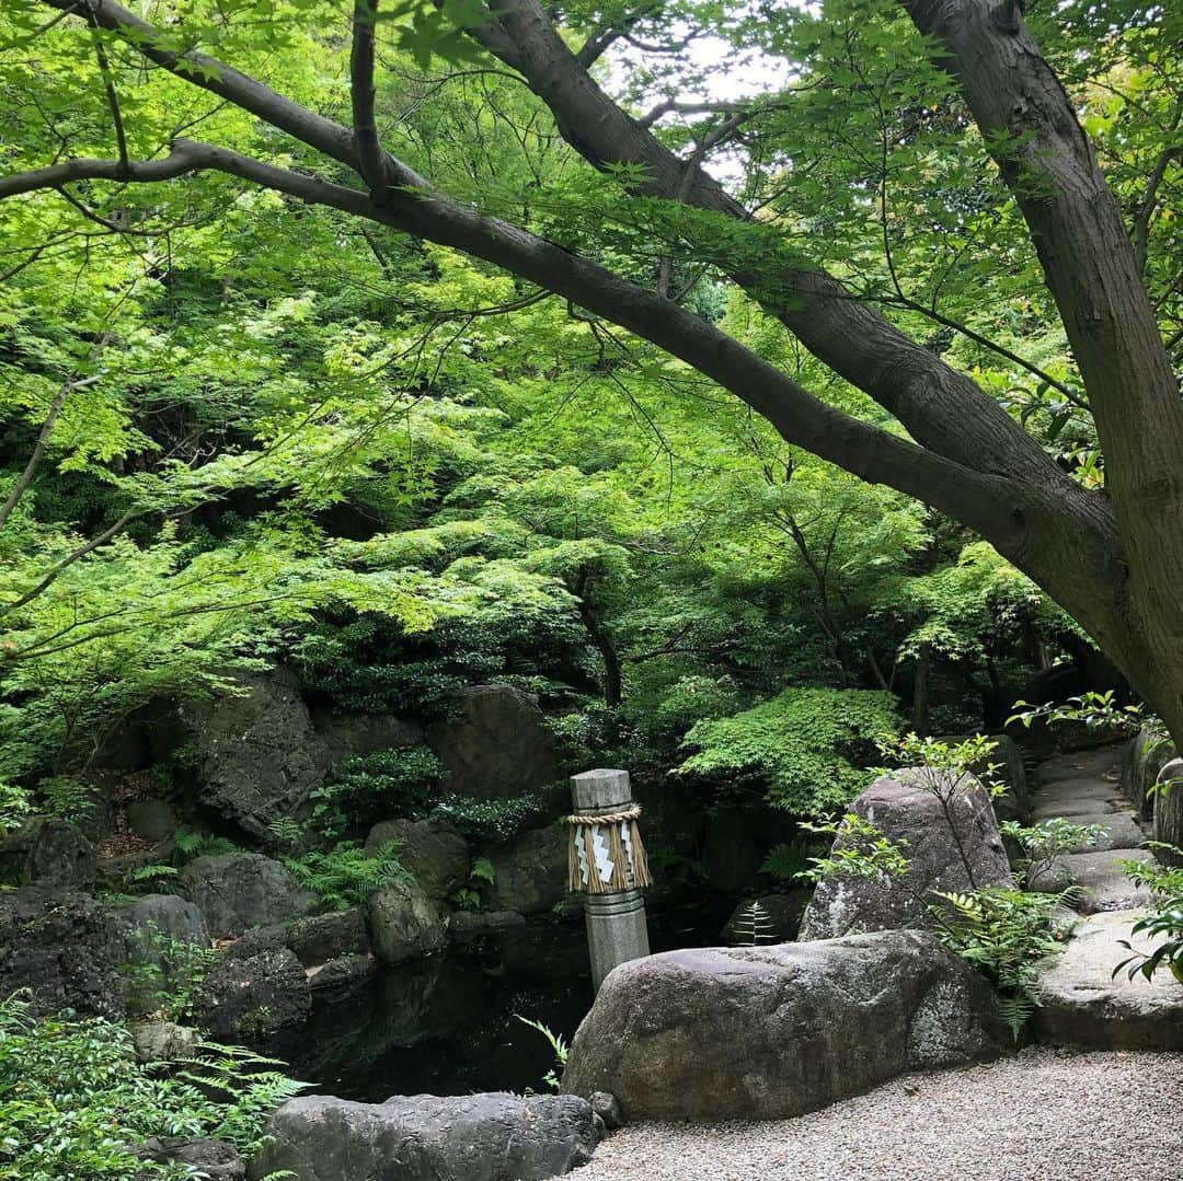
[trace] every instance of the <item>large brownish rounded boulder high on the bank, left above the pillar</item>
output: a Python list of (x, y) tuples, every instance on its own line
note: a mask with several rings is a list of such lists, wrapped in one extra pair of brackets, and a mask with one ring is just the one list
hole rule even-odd
[(505, 799), (558, 778), (555, 738), (537, 699), (508, 684), (461, 689), (459, 721), (435, 726), (427, 740), (448, 786), (474, 799)]

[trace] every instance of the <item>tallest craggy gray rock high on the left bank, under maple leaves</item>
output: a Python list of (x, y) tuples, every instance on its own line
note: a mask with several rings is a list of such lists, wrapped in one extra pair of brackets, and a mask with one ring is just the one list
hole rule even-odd
[(304, 811), (328, 759), (290, 669), (240, 683), (241, 696), (188, 705), (185, 720), (201, 750), (201, 802), (266, 841), (274, 820)]

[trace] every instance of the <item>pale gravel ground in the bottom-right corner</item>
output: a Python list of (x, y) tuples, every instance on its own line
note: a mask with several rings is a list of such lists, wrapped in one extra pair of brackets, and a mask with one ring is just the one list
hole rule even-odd
[(769, 1123), (645, 1123), (578, 1181), (1178, 1181), (1183, 1055), (1048, 1047)]

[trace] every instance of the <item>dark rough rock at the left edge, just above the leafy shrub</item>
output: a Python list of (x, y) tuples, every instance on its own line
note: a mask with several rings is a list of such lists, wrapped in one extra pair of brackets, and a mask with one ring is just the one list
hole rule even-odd
[(52, 885), (0, 890), (0, 997), (32, 988), (38, 1013), (118, 1018), (116, 966), (110, 917), (93, 898)]

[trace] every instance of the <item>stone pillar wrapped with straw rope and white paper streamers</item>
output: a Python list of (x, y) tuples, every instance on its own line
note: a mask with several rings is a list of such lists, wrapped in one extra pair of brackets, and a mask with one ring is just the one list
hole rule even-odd
[[(592, 982), (599, 992), (618, 963), (649, 954), (640, 889), (649, 882), (636, 830), (640, 809), (633, 803), (628, 772), (607, 770), (571, 776), (571, 887), (583, 894)], [(610, 819), (622, 815), (627, 818)], [(595, 817), (603, 817), (605, 823), (580, 824), (576, 819)], [(614, 848), (618, 858), (613, 857)], [(618, 865), (621, 852), (623, 863)]]

